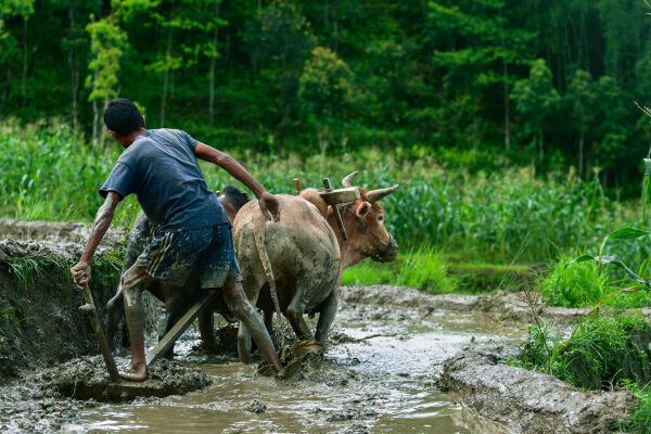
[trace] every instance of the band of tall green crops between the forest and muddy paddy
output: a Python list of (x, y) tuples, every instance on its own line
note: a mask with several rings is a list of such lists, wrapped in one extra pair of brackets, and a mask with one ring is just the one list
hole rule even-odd
[[(98, 189), (122, 151), (112, 141), (93, 149), (56, 123), (0, 123), (0, 217), (86, 222), (101, 205)], [(356, 179), (361, 187), (399, 183), (382, 205), (387, 229), (400, 246), (434, 245), (469, 261), (541, 261), (593, 245), (628, 218), (626, 207), (609, 201), (598, 182), (572, 174), (535, 177), (529, 168), (506, 163), (490, 174), (446, 169), (441, 163), (451, 156), (442, 159), (425, 148), (366, 149), (326, 158), (225, 151), (275, 193), (293, 194), (292, 178), (301, 178), (307, 188), (321, 187), (328, 176), (337, 186), (355, 169), (362, 170)], [(214, 165), (202, 168), (214, 190), (238, 184)], [(117, 208), (116, 225), (129, 226), (138, 210), (129, 197)]]

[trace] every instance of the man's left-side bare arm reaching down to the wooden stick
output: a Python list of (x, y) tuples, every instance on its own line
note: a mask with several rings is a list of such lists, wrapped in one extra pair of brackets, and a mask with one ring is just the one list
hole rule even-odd
[(113, 221), (115, 207), (122, 199), (122, 194), (110, 191), (104, 204), (98, 209), (98, 214), (95, 215), (95, 219), (90, 229), (90, 235), (86, 242), (86, 248), (79, 258), (79, 263), (71, 268), (75, 284), (79, 288), (90, 280), (90, 265), (92, 264), (92, 258), (98, 250), (98, 245), (100, 245), (100, 242), (108, 230), (111, 221)]

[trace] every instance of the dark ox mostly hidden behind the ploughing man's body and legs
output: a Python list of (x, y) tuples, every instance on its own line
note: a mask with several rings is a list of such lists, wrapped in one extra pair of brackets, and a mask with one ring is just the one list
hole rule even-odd
[[(238, 210), (248, 202), (246, 194), (232, 186), (227, 186), (217, 199), (224, 206), (230, 221), (234, 220)], [(151, 241), (152, 231), (153, 228), (146, 216), (143, 212), (140, 212), (129, 232), (129, 243), (127, 245), (127, 253), (123, 265), (123, 273), (136, 263), (138, 256), (144, 251)], [(181, 288), (153, 284), (148, 288), (148, 291), (165, 303), (167, 316), (165, 324), (158, 334), (158, 339), (165, 336), (178, 319), (205, 294), (205, 291), (201, 289), (197, 272), (192, 272), (186, 284)], [(213, 312), (220, 314), (229, 322), (237, 321), (222, 297), (217, 297), (215, 302), (207, 306), (197, 318), (199, 330), (203, 341), (203, 349), (206, 352), (214, 352), (217, 347)], [(124, 315), (124, 298), (120, 281), (117, 293), (106, 304), (106, 339), (108, 340), (110, 345), (113, 345), (113, 336), (117, 330), (117, 324)], [(128, 342), (128, 340), (123, 339), (123, 343), (125, 343), (125, 341)], [(174, 348), (170, 349), (167, 356), (171, 356), (173, 353)]]

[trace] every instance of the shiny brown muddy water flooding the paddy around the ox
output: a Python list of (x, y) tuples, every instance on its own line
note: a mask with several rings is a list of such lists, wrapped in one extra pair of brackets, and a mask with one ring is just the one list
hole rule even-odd
[(516, 329), (482, 314), (438, 312), (344, 304), (319, 367), (301, 379), (276, 380), (255, 366), (202, 359), (190, 348), (177, 354), (201, 362), (215, 384), (186, 396), (82, 410), (67, 433), (507, 433), (441, 392), (443, 361), (468, 345), (511, 343)]

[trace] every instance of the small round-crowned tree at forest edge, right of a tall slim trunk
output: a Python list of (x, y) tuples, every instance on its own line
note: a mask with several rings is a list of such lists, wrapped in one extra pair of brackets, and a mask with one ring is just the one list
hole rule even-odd
[(545, 161), (545, 120), (560, 101), (551, 82), (551, 71), (542, 59), (532, 62), (529, 77), (515, 82), (511, 98), (516, 110), (523, 115), (525, 129), (538, 140), (539, 165)]

